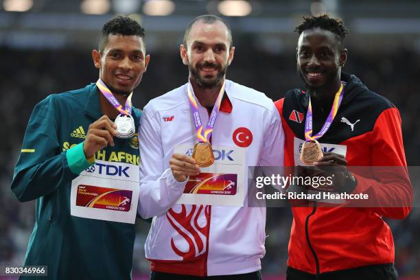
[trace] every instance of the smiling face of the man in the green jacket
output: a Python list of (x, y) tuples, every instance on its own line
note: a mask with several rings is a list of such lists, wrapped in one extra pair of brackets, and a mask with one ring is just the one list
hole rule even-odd
[(139, 85), (150, 60), (140, 36), (121, 34), (109, 34), (104, 51), (93, 50), (92, 56), (101, 80), (117, 95), (129, 95)]

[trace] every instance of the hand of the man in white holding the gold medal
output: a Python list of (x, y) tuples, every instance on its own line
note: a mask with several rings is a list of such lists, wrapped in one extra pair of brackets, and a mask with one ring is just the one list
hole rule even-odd
[(187, 180), (188, 176), (200, 173), (200, 167), (196, 164), (196, 160), (185, 154), (172, 154), (170, 168), (175, 180), (178, 182), (183, 182)]

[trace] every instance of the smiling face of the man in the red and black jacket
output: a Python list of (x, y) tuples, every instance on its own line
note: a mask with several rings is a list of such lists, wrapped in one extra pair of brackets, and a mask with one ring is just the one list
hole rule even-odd
[(327, 88), (340, 82), (341, 67), (347, 59), (336, 35), (318, 27), (299, 36), (297, 69), (308, 89)]

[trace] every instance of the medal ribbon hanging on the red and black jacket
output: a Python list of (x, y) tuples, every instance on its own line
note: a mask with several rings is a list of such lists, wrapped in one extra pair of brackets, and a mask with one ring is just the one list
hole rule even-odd
[(322, 137), (325, 135), (329, 127), (331, 126), (334, 117), (336, 117), (338, 108), (340, 107), (342, 97), (344, 95), (344, 87), (346, 83), (341, 82), (340, 89), (338, 89), (336, 96), (334, 97), (333, 106), (331, 108), (331, 111), (329, 112), (329, 115), (327, 117), (327, 120), (325, 121), (325, 124), (320, 129), (316, 135), (312, 136), (312, 105), (311, 105), (311, 96), (310, 96), (310, 102), (307, 106), (307, 113), (306, 113), (306, 121), (305, 121), (305, 139), (306, 141), (315, 141), (316, 139)]

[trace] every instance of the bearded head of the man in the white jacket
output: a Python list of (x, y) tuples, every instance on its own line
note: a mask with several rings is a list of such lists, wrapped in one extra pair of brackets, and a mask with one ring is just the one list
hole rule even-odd
[(191, 79), (206, 89), (220, 85), (235, 51), (226, 25), (221, 21), (197, 21), (186, 43), (187, 46), (180, 46), (180, 55), (188, 65)]

